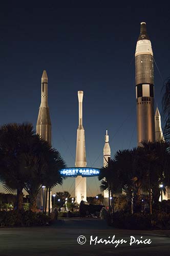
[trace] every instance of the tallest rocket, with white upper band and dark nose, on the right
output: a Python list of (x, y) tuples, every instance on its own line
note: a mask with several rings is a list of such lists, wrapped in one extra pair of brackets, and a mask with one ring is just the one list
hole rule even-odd
[(135, 52), (137, 136), (141, 141), (155, 141), (154, 120), (154, 58), (146, 23), (140, 24)]

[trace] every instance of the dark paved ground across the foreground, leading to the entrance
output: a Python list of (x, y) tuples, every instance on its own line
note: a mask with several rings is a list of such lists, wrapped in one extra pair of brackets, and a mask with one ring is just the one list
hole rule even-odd
[[(134, 238), (131, 239), (131, 236)], [(145, 244), (130, 245), (130, 242), (138, 242), (137, 240), (145, 241)], [(89, 218), (59, 219), (53, 225), (45, 227), (0, 228), (0, 256), (160, 254), (170, 255), (170, 230), (114, 229), (108, 227), (105, 221)]]

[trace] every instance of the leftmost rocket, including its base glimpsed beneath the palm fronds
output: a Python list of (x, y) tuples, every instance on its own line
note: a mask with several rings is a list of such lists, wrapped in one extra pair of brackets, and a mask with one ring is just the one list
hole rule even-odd
[[(38, 119), (36, 123), (36, 133), (51, 144), (51, 120), (48, 105), (48, 76), (46, 70), (41, 77), (41, 103), (39, 107)], [(48, 193), (49, 194), (49, 193)], [(41, 188), (37, 195), (37, 207), (41, 208), (45, 202), (45, 190)], [(49, 196), (47, 196), (47, 211), (49, 206)], [(50, 202), (52, 208), (52, 202)]]

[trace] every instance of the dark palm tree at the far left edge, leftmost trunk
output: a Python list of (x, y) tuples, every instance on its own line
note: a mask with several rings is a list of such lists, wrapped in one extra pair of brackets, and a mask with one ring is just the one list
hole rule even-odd
[(30, 123), (10, 123), (0, 127), (0, 177), (3, 187), (9, 192), (17, 191), (17, 209), (23, 207), (23, 188), (26, 172), (20, 172), (20, 158), (29, 148), (34, 134)]

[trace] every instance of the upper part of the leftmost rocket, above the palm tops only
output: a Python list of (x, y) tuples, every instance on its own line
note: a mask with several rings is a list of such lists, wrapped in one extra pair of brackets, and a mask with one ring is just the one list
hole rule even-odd
[(46, 70), (41, 77), (41, 103), (39, 107), (36, 132), (51, 144), (51, 120), (48, 105), (48, 76)]

